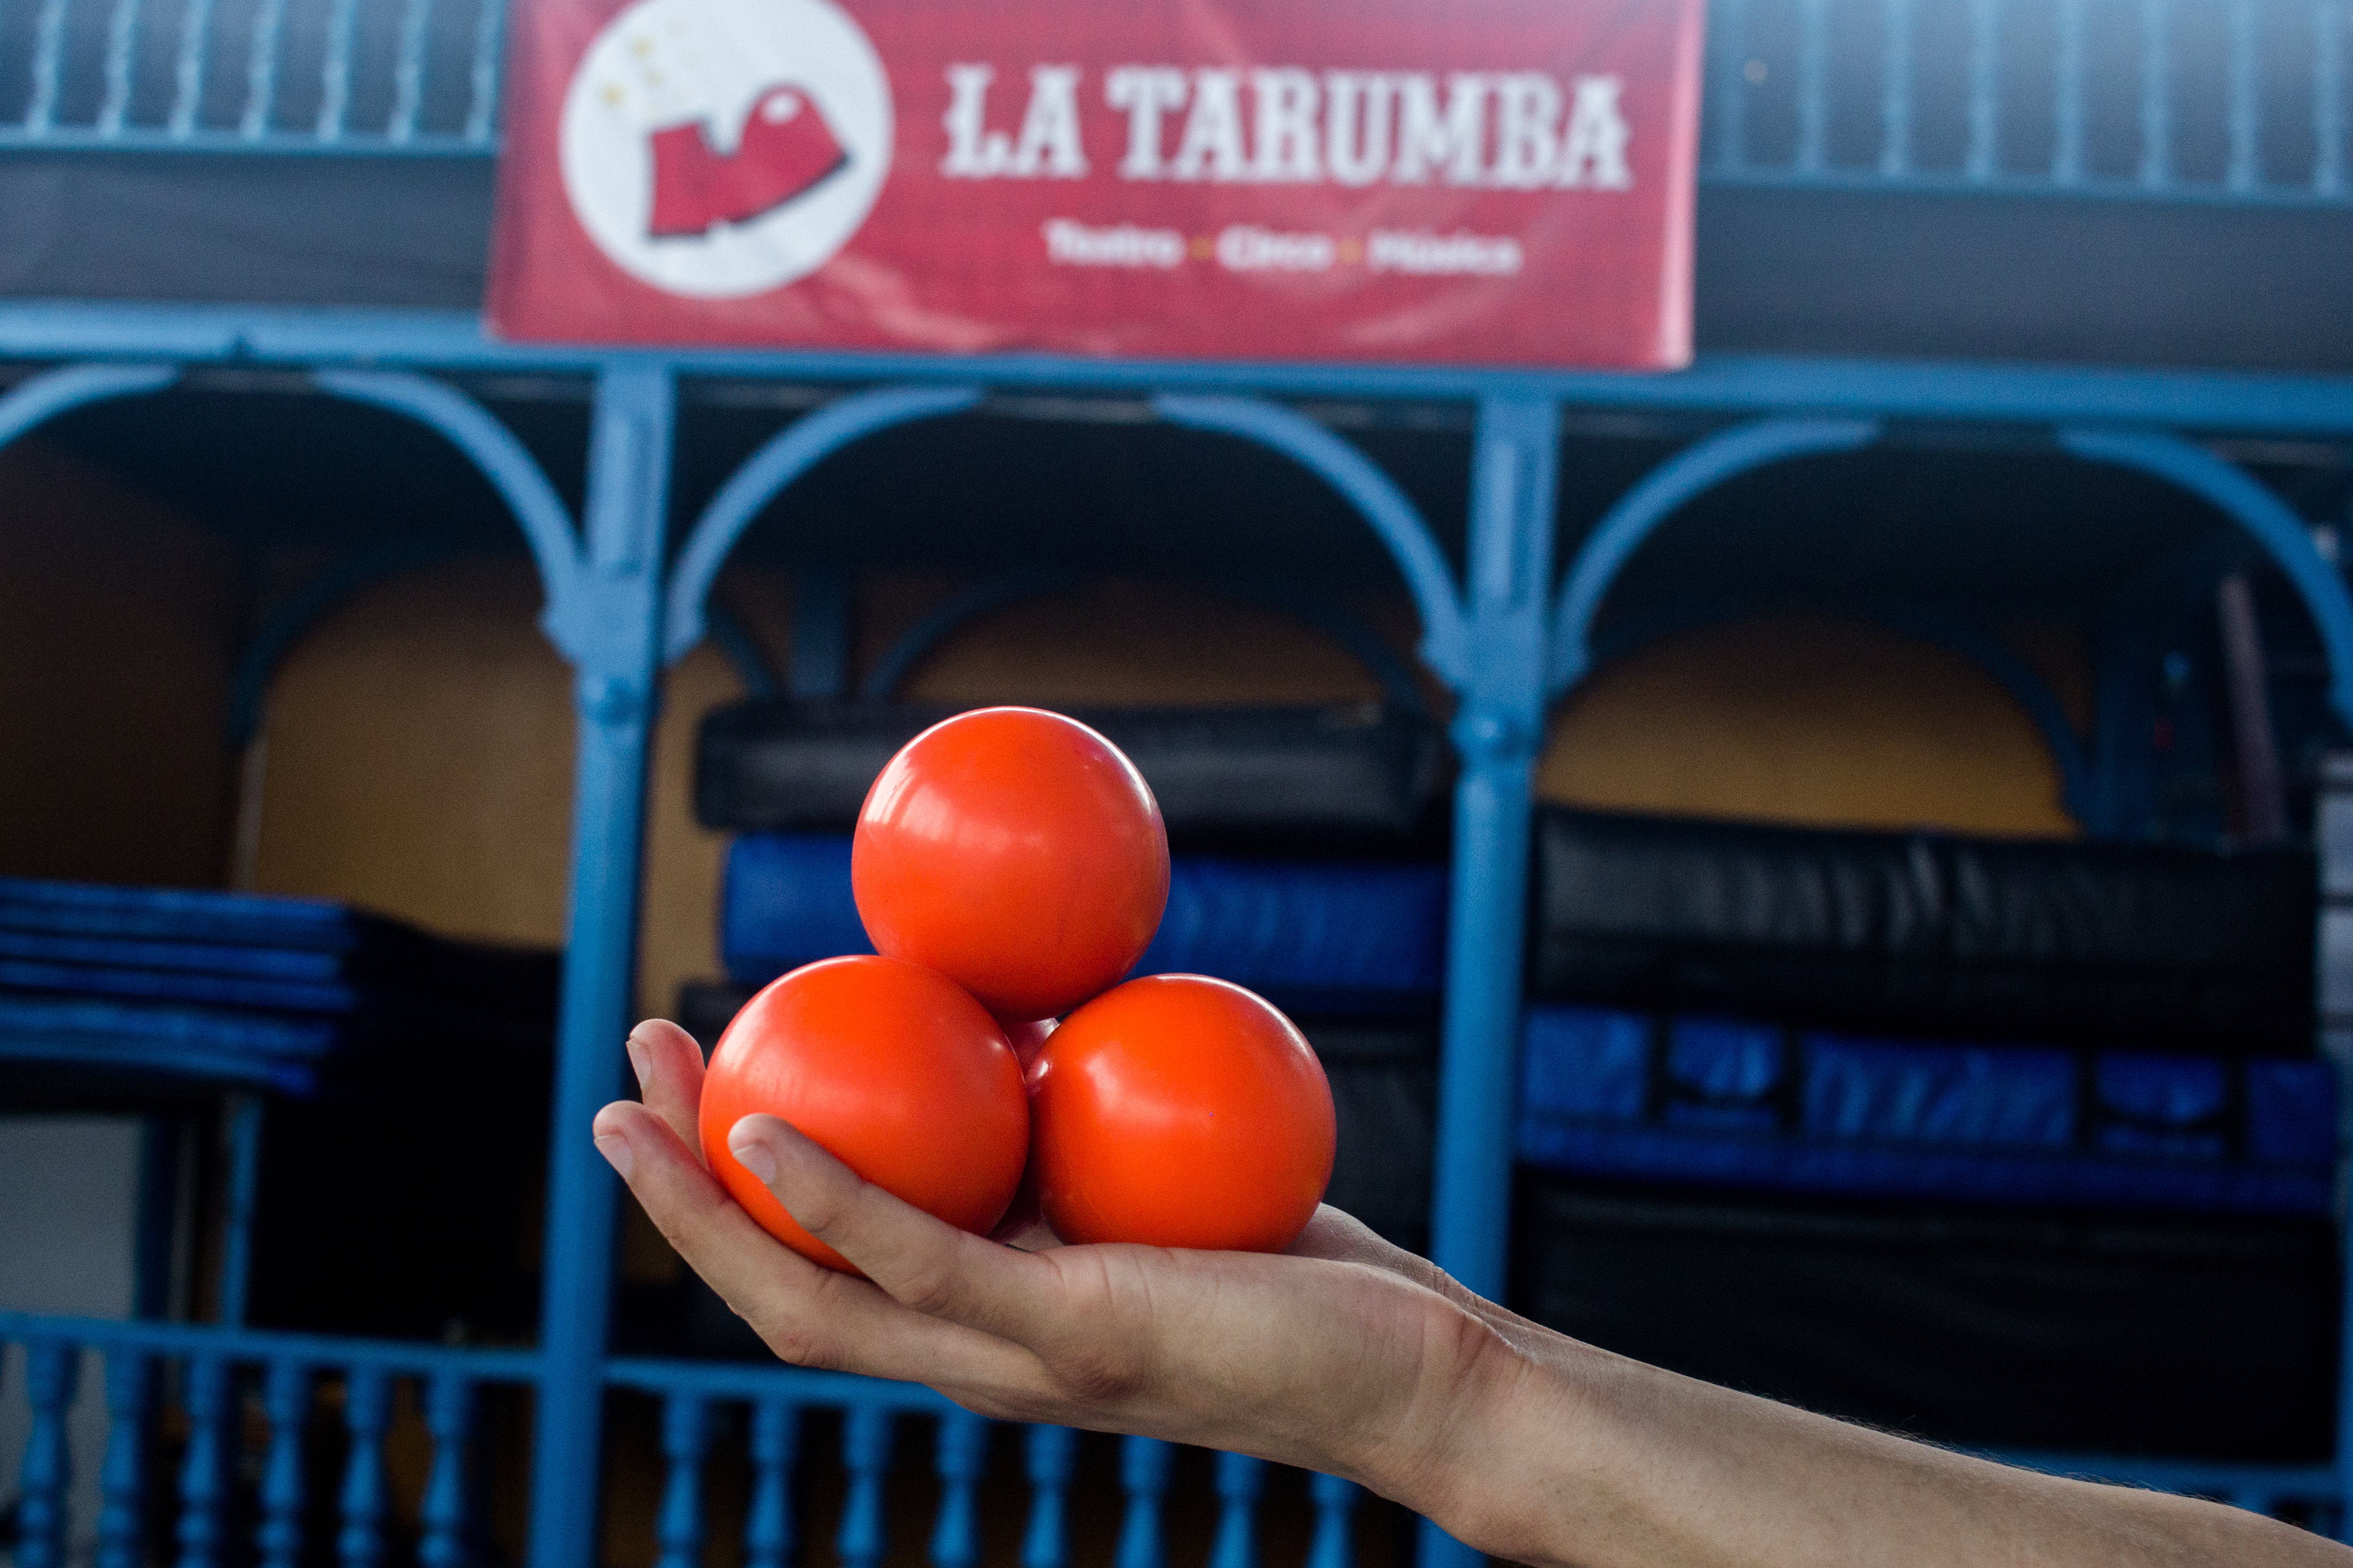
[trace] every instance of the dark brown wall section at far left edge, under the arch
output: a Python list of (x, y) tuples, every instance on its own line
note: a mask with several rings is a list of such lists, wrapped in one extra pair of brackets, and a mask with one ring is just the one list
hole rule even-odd
[(0, 875), (214, 886), (238, 564), (38, 440), (0, 449)]

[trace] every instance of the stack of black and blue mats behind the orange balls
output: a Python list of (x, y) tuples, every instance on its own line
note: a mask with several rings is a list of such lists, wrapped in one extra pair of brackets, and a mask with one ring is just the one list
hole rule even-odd
[[(946, 712), (762, 701), (706, 717), (696, 811), (739, 835), (720, 893), (727, 985), (680, 997), (680, 1023), (706, 1044), (753, 987), (871, 952), (849, 830), (892, 752)], [(1075, 717), (1136, 762), (1169, 830), (1167, 914), (1136, 973), (1217, 976), (1292, 1013), (1339, 1112), (1329, 1201), (1421, 1246), (1447, 877), (1412, 856), (1442, 806), (1435, 729), (1379, 705)]]

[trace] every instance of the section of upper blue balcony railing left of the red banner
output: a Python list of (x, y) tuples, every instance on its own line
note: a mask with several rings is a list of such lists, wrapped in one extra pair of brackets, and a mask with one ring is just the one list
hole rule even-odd
[(496, 150), (506, 0), (0, 7), (0, 148)]

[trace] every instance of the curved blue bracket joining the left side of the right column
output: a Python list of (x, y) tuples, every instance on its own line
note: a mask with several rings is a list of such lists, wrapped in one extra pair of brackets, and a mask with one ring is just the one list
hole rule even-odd
[(1167, 395), (1153, 397), (1153, 411), (1172, 425), (1238, 435), (1280, 451), (1346, 496), (1405, 574), (1421, 611), (1421, 661), (1457, 691), (1471, 684), (1471, 635), (1454, 595), (1454, 571), (1421, 510), (1372, 458), (1313, 418), (1264, 397)]

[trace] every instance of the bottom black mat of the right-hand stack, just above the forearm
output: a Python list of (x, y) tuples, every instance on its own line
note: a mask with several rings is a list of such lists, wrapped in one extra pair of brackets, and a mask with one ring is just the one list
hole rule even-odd
[(1602, 1349), (1944, 1443), (2322, 1460), (2325, 1220), (2059, 1220), (1522, 1178), (1511, 1305)]

